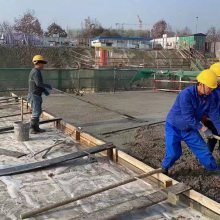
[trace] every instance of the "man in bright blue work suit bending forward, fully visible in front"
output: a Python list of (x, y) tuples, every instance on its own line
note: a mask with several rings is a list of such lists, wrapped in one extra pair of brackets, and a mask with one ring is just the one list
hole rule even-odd
[(208, 170), (219, 175), (217, 165), (206, 142), (200, 135), (212, 138), (210, 129), (200, 121), (206, 113), (220, 133), (220, 116), (210, 93), (217, 87), (217, 77), (211, 70), (204, 70), (197, 76), (198, 83), (179, 93), (168, 113), (165, 125), (166, 155), (162, 162), (163, 173), (173, 166), (182, 155), (181, 141), (191, 149), (199, 162)]

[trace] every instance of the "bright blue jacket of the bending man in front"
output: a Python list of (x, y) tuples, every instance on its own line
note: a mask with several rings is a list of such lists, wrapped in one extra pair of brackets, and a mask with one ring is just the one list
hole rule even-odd
[(220, 113), (213, 95), (199, 95), (194, 85), (179, 93), (166, 121), (180, 130), (199, 130), (203, 115), (209, 116), (220, 133)]

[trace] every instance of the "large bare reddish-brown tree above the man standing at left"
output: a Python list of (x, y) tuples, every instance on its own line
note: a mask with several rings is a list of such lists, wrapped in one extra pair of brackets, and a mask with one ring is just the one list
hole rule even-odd
[(43, 30), (39, 20), (34, 16), (34, 11), (27, 11), (20, 18), (15, 18), (14, 30), (24, 34), (42, 36)]

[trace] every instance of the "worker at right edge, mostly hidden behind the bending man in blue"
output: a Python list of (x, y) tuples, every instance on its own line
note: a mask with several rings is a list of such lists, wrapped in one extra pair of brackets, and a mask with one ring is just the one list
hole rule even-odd
[[(220, 63), (214, 63), (211, 65), (210, 70), (212, 70), (216, 76), (217, 76), (217, 81), (218, 81), (218, 87), (213, 90), (213, 92), (211, 93), (211, 95), (214, 98), (214, 101), (217, 103), (217, 108), (220, 112)], [(213, 134), (218, 135), (218, 131), (215, 128), (214, 124), (212, 123), (212, 121), (210, 120), (210, 118), (208, 118), (207, 116), (203, 117), (202, 123), (209, 128)], [(217, 140), (215, 138), (210, 138), (208, 139), (208, 146), (211, 152), (214, 151), (215, 149), (215, 145), (217, 143)], [(218, 144), (218, 152), (220, 154), (220, 141)]]

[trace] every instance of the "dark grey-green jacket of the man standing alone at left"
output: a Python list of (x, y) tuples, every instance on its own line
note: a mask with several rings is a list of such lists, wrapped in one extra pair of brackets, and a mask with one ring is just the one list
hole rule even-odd
[(48, 84), (43, 83), (41, 71), (35, 68), (33, 68), (29, 74), (28, 83), (29, 93), (38, 96), (41, 96), (42, 92), (44, 92), (48, 87)]

